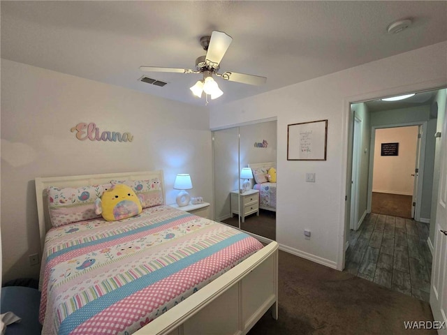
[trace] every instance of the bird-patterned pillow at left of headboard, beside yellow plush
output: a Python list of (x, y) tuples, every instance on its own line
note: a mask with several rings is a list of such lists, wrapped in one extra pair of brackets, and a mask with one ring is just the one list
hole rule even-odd
[(103, 192), (111, 186), (105, 184), (78, 188), (48, 187), (48, 212), (52, 226), (59, 227), (101, 217), (95, 213), (95, 200), (101, 198)]

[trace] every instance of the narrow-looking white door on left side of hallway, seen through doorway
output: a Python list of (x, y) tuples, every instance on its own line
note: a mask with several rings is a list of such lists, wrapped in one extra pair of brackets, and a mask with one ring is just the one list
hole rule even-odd
[(362, 120), (354, 117), (353, 127), (353, 149), (352, 149), (352, 174), (351, 174), (351, 229), (358, 230), (358, 202), (359, 202), (359, 173), (360, 173), (360, 150)]

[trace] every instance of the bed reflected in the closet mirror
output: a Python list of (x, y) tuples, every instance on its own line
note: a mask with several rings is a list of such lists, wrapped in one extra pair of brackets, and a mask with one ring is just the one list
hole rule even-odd
[(277, 211), (277, 183), (268, 181), (265, 177), (270, 168), (276, 169), (276, 163), (251, 163), (249, 168), (254, 175), (255, 184), (253, 188), (259, 191), (259, 208), (268, 211)]

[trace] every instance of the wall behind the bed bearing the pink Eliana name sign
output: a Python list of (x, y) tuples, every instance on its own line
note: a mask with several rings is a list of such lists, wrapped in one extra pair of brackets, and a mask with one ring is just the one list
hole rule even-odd
[[(166, 88), (165, 88), (166, 89)], [(70, 129), (94, 122), (133, 142), (80, 141)], [(193, 107), (80, 77), (1, 61), (1, 237), (3, 281), (38, 278), (35, 177), (163, 170), (167, 203), (175, 174), (191, 174), (191, 196), (212, 199), (205, 107)]]

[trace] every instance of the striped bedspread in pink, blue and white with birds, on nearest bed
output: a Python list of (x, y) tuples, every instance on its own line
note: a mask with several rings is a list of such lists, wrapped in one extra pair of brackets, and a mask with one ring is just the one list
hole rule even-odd
[(52, 228), (41, 268), (42, 334), (132, 334), (262, 247), (169, 206)]

